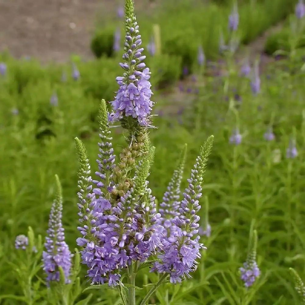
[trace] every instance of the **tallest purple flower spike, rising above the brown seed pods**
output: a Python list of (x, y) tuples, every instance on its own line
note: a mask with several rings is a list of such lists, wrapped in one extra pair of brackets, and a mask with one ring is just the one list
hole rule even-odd
[(120, 120), (122, 126), (133, 130), (136, 126), (151, 126), (149, 115), (153, 102), (151, 84), (149, 82), (149, 68), (145, 68), (143, 62), (146, 56), (142, 55), (142, 39), (139, 35), (139, 26), (134, 14), (133, 0), (125, 2), (126, 36), (123, 55), (124, 63), (120, 66), (124, 69), (122, 77), (117, 77), (120, 86), (112, 102), (113, 113), (109, 116), (111, 122)]

